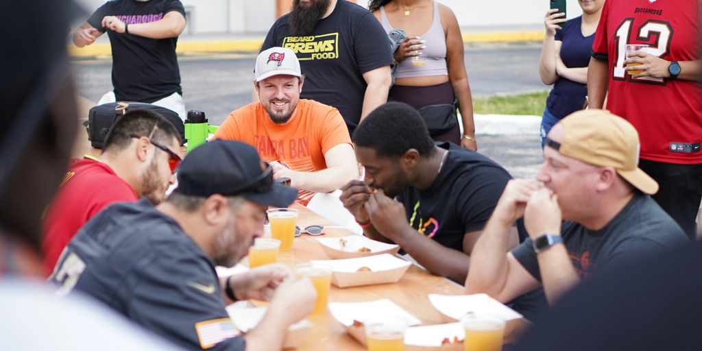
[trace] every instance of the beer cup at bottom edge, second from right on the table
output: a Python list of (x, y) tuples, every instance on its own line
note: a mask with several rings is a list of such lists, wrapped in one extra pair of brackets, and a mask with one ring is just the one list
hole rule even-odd
[(367, 319), (363, 323), (366, 330), (368, 351), (404, 350), (404, 333), (408, 323), (402, 317)]

